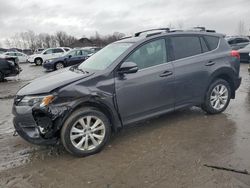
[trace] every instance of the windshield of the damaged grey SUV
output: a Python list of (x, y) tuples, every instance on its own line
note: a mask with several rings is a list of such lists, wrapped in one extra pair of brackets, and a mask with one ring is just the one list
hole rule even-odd
[(132, 43), (113, 43), (95, 53), (82, 64), (79, 69), (104, 70), (111, 65)]

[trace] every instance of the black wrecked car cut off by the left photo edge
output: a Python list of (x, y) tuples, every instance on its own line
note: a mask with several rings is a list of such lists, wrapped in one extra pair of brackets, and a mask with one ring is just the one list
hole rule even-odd
[(5, 77), (16, 76), (22, 69), (19, 67), (18, 59), (13, 57), (0, 58), (0, 81), (2, 82)]

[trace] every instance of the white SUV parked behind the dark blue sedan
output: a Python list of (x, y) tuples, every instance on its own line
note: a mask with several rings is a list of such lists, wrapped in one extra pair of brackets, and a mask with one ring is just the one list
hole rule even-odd
[(29, 56), (28, 62), (35, 63), (36, 65), (42, 65), (43, 62), (47, 60), (64, 56), (64, 54), (69, 50), (70, 48), (68, 47), (48, 48), (43, 50), (40, 54), (33, 54)]

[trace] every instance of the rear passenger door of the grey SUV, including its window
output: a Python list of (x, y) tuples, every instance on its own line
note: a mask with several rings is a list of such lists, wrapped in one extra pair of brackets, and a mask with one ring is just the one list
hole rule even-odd
[(204, 39), (199, 35), (172, 36), (171, 49), (176, 83), (175, 106), (199, 104), (209, 80), (209, 66), (213, 66), (213, 60), (204, 55), (209, 51)]

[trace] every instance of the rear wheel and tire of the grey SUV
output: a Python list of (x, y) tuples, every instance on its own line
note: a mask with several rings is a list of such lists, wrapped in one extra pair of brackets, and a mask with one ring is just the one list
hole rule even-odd
[(223, 112), (231, 99), (231, 88), (229, 83), (223, 79), (215, 80), (205, 95), (205, 101), (201, 108), (208, 114)]

